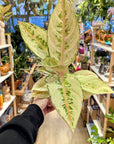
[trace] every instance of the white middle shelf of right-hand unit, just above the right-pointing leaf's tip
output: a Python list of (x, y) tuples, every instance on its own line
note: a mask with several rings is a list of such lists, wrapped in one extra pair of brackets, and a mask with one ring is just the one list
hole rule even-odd
[[(100, 78), (100, 79), (102, 79), (104, 82), (109, 82), (109, 78), (108, 77), (105, 77), (104, 76), (104, 74), (100, 74), (99, 72), (98, 72), (98, 68), (96, 68), (95, 66), (90, 66), (90, 68), (92, 69), (92, 71), (94, 71), (97, 75), (98, 75), (98, 77)], [(112, 80), (114, 81), (114, 78), (112, 78)], [(111, 84), (109, 84), (110, 86), (114, 86), (114, 82), (112, 82)]]

